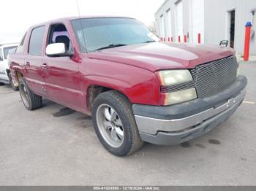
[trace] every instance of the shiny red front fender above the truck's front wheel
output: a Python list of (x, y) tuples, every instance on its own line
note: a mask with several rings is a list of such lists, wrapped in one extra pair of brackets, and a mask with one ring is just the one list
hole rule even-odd
[(159, 105), (159, 82), (156, 74), (146, 69), (110, 61), (86, 59), (80, 65), (84, 92), (91, 85), (117, 90), (132, 104)]

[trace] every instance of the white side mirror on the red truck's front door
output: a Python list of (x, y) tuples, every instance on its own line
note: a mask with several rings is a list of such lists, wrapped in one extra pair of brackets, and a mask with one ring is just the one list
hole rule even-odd
[(53, 43), (46, 47), (46, 55), (48, 56), (72, 56), (73, 52), (66, 50), (64, 43)]

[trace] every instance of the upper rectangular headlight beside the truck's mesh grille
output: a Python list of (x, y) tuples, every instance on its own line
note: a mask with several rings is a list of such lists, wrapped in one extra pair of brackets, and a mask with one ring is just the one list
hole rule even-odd
[(159, 71), (158, 74), (162, 85), (178, 85), (193, 80), (188, 70), (166, 70)]

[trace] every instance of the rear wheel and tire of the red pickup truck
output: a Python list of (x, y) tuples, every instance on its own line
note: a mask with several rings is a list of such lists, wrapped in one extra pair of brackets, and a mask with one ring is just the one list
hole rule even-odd
[(34, 94), (29, 89), (29, 86), (26, 84), (26, 80), (23, 78), (20, 79), (19, 90), (20, 98), (23, 101), (23, 104), (26, 107), (26, 109), (32, 111), (34, 109), (42, 107), (42, 97), (37, 94)]

